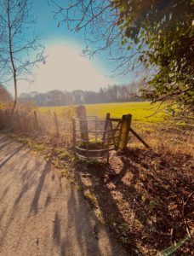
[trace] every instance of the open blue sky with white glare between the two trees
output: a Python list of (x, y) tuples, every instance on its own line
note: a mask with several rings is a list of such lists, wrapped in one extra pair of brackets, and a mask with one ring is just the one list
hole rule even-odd
[[(66, 0), (67, 1), (67, 0)], [(48, 0), (33, 0), (31, 14), (36, 18), (34, 29), (41, 34), (48, 55), (45, 65), (34, 69), (34, 81), (19, 82), (19, 93), (37, 90), (99, 90), (108, 84), (131, 81), (131, 74), (111, 78), (115, 66), (103, 55), (89, 60), (81, 56), (85, 42), (82, 32), (70, 32), (65, 23), (54, 20), (54, 5)], [(29, 35), (31, 30), (29, 30)], [(9, 84), (9, 90), (13, 87)]]

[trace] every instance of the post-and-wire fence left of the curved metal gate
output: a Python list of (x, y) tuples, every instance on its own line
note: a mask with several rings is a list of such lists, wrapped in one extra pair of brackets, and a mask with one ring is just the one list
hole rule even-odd
[(72, 136), (71, 118), (74, 108), (66, 108), (58, 114), (53, 111), (43, 112), (31, 106), (21, 106), (14, 114), (9, 108), (0, 108), (0, 129), (23, 133), (36, 133), (55, 137)]

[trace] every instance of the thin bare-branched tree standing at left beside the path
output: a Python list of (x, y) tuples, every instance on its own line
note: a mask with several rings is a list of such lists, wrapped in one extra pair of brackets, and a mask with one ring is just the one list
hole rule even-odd
[(0, 0), (0, 80), (14, 83), (14, 105), (17, 106), (18, 81), (29, 79), (37, 62), (43, 61), (43, 45), (31, 35), (34, 23), (29, 0)]

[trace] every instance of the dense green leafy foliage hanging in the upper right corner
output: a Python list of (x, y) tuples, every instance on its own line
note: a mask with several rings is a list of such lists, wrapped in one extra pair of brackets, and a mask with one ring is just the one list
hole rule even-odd
[(179, 113), (193, 113), (193, 1), (112, 0), (112, 5), (119, 11), (122, 44), (128, 49), (136, 44), (139, 61), (155, 67), (144, 95), (153, 102), (175, 102)]

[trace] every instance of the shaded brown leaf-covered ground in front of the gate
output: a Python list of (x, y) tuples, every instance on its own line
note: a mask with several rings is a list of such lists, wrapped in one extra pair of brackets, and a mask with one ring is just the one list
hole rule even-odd
[[(77, 183), (130, 255), (156, 255), (194, 231), (191, 155), (131, 148), (110, 164), (78, 161)], [(91, 200), (94, 196), (95, 200)], [(175, 255), (194, 255), (192, 239)]]

